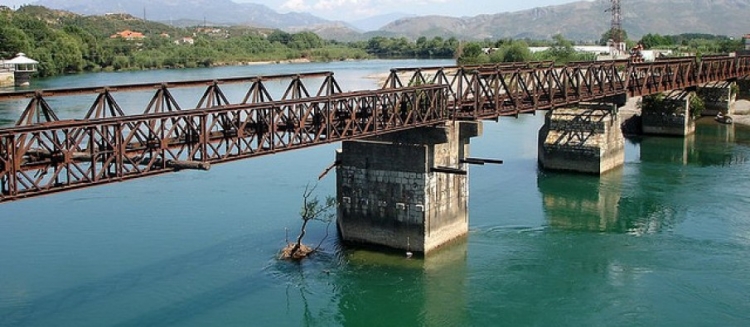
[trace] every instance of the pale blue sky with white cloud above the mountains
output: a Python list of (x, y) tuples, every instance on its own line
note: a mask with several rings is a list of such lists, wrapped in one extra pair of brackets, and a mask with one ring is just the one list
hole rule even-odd
[[(36, 0), (0, 0), (19, 6)], [(160, 1), (160, 0), (154, 0)], [(174, 0), (172, 0), (174, 1)], [(352, 21), (394, 12), (414, 15), (475, 16), (557, 5), (575, 0), (233, 0), (253, 2), (279, 12), (304, 11), (329, 20)], [(595, 0), (606, 1), (606, 0)]]

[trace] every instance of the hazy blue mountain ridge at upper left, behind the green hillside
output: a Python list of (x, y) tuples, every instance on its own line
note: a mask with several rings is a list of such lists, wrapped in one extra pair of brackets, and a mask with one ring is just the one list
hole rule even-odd
[(151, 21), (195, 21), (294, 29), (327, 23), (307, 13), (278, 13), (267, 6), (230, 0), (39, 0), (35, 4), (83, 15), (128, 13)]

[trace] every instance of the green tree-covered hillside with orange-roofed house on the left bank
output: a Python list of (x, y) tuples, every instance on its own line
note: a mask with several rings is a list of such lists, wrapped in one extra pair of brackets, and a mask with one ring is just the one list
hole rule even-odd
[[(112, 37), (124, 30), (135, 38)], [(360, 59), (358, 48), (312, 32), (232, 27), (175, 28), (129, 15), (83, 17), (39, 6), (0, 10), (0, 57), (18, 52), (40, 62), (42, 76), (98, 70), (158, 69), (250, 61)]]

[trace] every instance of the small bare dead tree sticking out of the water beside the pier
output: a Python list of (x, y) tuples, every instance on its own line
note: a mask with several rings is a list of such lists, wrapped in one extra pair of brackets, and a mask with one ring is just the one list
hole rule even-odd
[[(335, 212), (333, 208), (336, 207), (336, 199), (334, 197), (326, 197), (325, 203), (321, 203), (317, 196), (313, 197), (312, 193), (315, 191), (316, 186), (305, 187), (305, 192), (302, 194), (302, 208), (300, 209), (300, 218), (302, 218), (302, 227), (300, 227), (299, 236), (295, 243), (288, 243), (286, 247), (281, 251), (282, 259), (301, 260), (306, 258), (308, 255), (314, 253), (320, 249), (320, 245), (323, 244), (323, 240), (320, 241), (317, 247), (311, 248), (307, 245), (302, 244), (302, 239), (307, 234), (307, 224), (312, 220), (318, 220), (326, 222), (329, 225), (333, 221)], [(326, 237), (328, 237), (326, 229)]]

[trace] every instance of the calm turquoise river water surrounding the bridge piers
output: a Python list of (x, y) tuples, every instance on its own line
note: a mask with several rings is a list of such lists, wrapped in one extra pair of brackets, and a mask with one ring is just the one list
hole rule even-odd
[[(365, 77), (391, 67), (449, 64), (33, 82), (333, 70), (354, 90), (376, 87)], [(80, 118), (90, 105), (54, 101), (63, 117)], [(22, 109), (0, 104), (0, 120), (7, 125)], [(468, 237), (424, 259), (344, 248), (333, 228), (322, 253), (301, 264), (276, 259), (286, 229), (294, 236), (299, 228), (305, 185), (332, 163), (338, 144), (0, 204), (0, 326), (750, 325), (750, 129), (705, 120), (687, 139), (629, 139), (625, 165), (593, 177), (538, 169), (543, 120), (539, 113), (484, 123), (472, 156), (505, 164), (471, 168)], [(334, 180), (323, 179), (318, 194), (334, 194)], [(325, 233), (313, 224), (307, 240)]]

